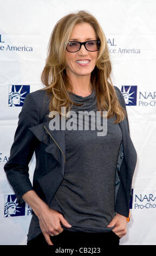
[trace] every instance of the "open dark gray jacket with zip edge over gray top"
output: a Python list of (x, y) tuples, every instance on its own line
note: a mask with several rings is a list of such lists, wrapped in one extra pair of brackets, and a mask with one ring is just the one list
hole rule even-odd
[[(121, 105), (126, 109), (122, 93), (115, 87)], [(66, 162), (65, 131), (49, 129), (49, 96), (46, 90), (37, 90), (27, 94), (15, 132), (14, 143), (8, 162), (4, 165), (6, 176), (15, 191), (18, 203), (29, 190), (50, 205), (64, 175)], [(137, 163), (128, 119), (119, 123), (122, 131), (122, 143), (119, 150), (115, 180), (115, 211), (128, 217), (131, 186)], [(28, 164), (35, 151), (36, 167), (33, 186), (29, 180)]]

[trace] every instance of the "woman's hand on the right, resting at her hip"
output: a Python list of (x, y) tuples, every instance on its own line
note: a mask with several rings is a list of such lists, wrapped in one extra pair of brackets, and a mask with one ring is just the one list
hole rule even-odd
[(127, 218), (123, 215), (116, 214), (107, 227), (115, 227), (112, 231), (121, 238), (127, 233)]

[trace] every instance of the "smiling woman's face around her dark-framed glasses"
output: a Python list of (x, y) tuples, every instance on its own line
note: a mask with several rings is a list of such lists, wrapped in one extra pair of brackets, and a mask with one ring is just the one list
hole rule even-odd
[[(87, 22), (74, 26), (69, 41), (85, 42), (97, 40), (94, 28)], [(82, 45), (78, 52), (68, 52), (66, 50), (66, 72), (69, 77), (89, 76), (95, 68), (98, 51), (89, 52)]]

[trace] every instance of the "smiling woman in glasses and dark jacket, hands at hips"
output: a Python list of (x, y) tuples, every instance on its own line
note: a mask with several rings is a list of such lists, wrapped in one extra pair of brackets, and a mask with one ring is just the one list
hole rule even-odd
[[(117, 246), (126, 235), (137, 153), (124, 97), (110, 74), (107, 41), (94, 16), (79, 11), (57, 22), (41, 76), (46, 87), (25, 97), (4, 166), (18, 202), (34, 212), (28, 245)], [(61, 107), (73, 111), (77, 129), (69, 115), (65, 129), (54, 119), (63, 120)], [(82, 111), (87, 117), (107, 111), (105, 136), (97, 136), (97, 125), (86, 129)], [(101, 125), (95, 118), (89, 124)], [(28, 164), (34, 151), (32, 187)]]

